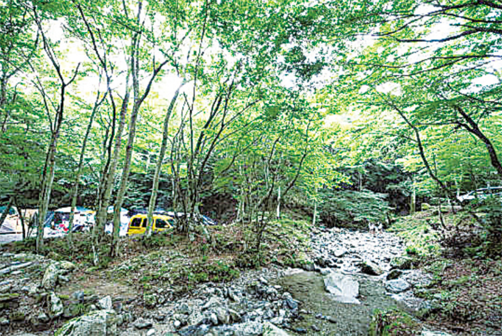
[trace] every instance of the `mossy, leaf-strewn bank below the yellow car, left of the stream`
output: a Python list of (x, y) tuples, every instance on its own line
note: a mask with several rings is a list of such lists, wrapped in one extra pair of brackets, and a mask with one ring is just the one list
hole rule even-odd
[[(189, 294), (201, 283), (228, 283), (248, 269), (272, 264), (300, 267), (309, 246), (310, 230), (304, 220), (271, 222), (264, 232), (260, 253), (251, 250), (254, 243), (246, 243), (255, 234), (244, 231), (241, 225), (206, 229), (210, 240), (202, 233), (195, 233), (192, 240), (172, 232), (150, 238), (129, 237), (122, 240), (121, 254), (116, 259), (108, 257), (110, 238), (105, 237), (97, 266), (92, 262), (89, 234), (74, 235), (71, 249), (66, 239), (47, 240), (44, 256), (37, 256), (29, 268), (15, 276), (0, 274), (0, 282), (20, 283), (5, 288), (15, 296), (2, 307), (5, 309), (0, 309), (0, 318), (6, 321), (0, 331), (53, 331), (66, 320), (99, 307), (99, 299), (107, 295), (111, 296), (113, 307), (120, 306), (133, 316), (144, 316), (149, 309)], [(34, 251), (33, 239), (0, 245), (5, 266), (16, 264), (17, 256)], [(76, 267), (66, 276), (67, 281), (59, 280), (49, 290), (40, 284), (53, 261), (70, 261)], [(36, 293), (25, 290), (21, 280), (24, 287), (37, 288)], [(56, 316), (51, 310), (52, 291), (63, 303), (62, 315)], [(76, 300), (78, 293), (85, 296), (83, 302)], [(41, 319), (40, 312), (47, 316)]]

